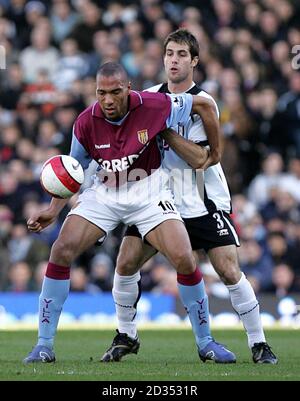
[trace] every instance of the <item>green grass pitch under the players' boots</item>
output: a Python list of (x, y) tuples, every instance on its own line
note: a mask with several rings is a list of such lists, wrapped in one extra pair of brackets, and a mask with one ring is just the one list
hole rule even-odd
[(300, 380), (300, 331), (273, 330), (267, 338), (279, 364), (255, 365), (239, 330), (215, 330), (219, 342), (236, 353), (235, 365), (202, 363), (191, 330), (140, 330), (138, 355), (119, 363), (100, 363), (110, 345), (113, 330), (59, 331), (55, 364), (23, 365), (22, 359), (35, 343), (32, 331), (0, 331), (0, 381), (3, 380), (97, 380), (97, 381), (206, 381), (206, 380)]

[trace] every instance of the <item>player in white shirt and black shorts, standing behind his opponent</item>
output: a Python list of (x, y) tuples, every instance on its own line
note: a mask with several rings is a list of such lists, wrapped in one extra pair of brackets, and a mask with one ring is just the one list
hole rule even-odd
[[(185, 29), (171, 33), (164, 44), (168, 82), (148, 91), (204, 96), (215, 105), (218, 115), (214, 99), (193, 82), (193, 70), (198, 60), (196, 38)], [(231, 198), (222, 167), (220, 163), (215, 164), (218, 157), (211, 153), (208, 153), (205, 165), (199, 165), (201, 149), (209, 142), (206, 136), (208, 127), (199, 116), (192, 115), (188, 124), (173, 129), (178, 134), (172, 131), (162, 134), (167, 142), (163, 165), (175, 181), (175, 203), (186, 224), (192, 247), (207, 252), (214, 269), (227, 286), (232, 306), (246, 330), (253, 361), (276, 364), (277, 358), (265, 339), (259, 303), (251, 284), (240, 271), (239, 240), (230, 218)], [(175, 170), (177, 174), (174, 174)], [(184, 174), (178, 174), (178, 171)], [(200, 188), (201, 179), (204, 185)], [(111, 347), (102, 357), (103, 362), (119, 361), (128, 353), (138, 352), (135, 318), (140, 298), (139, 269), (156, 252), (150, 244), (142, 241), (135, 226), (128, 227), (120, 247), (113, 287), (118, 330)], [(202, 360), (214, 359), (201, 353), (199, 356)]]

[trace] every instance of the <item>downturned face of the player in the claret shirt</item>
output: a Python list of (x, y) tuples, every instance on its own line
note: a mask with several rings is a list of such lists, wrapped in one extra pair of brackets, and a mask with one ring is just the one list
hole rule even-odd
[(120, 74), (110, 77), (98, 75), (96, 82), (96, 96), (105, 117), (112, 121), (123, 118), (128, 111), (130, 83)]

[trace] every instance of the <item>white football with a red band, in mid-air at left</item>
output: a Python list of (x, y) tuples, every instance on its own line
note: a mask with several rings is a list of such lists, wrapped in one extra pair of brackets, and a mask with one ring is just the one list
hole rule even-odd
[(43, 189), (54, 198), (67, 199), (79, 191), (84, 180), (81, 164), (74, 157), (58, 155), (47, 160), (41, 171)]

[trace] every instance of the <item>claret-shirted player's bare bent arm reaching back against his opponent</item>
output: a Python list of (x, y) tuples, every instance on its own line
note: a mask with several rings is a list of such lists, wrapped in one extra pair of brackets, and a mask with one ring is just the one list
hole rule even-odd
[(216, 164), (221, 159), (220, 124), (215, 105), (202, 96), (193, 97), (193, 112), (198, 114), (203, 122), (205, 133), (210, 147), (210, 164)]

